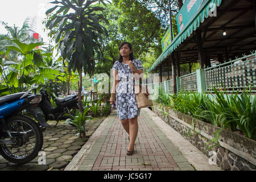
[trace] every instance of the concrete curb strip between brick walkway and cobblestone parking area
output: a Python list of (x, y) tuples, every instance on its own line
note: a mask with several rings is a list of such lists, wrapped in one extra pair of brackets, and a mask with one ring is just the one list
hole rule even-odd
[(116, 115), (115, 111), (104, 119), (98, 129), (93, 133), (89, 140), (82, 146), (81, 150), (74, 156), (72, 161), (65, 167), (64, 171), (78, 171), (82, 162), (84, 161), (86, 155), (89, 154), (92, 146), (96, 142), (97, 138), (100, 137), (102, 131), (105, 129), (105, 126), (108, 124), (110, 119), (113, 119)]

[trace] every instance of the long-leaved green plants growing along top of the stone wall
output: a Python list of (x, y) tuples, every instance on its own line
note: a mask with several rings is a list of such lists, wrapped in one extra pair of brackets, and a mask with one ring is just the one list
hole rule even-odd
[[(246, 137), (256, 139), (256, 97), (250, 90), (231, 94), (213, 88), (214, 94), (179, 92), (164, 93), (159, 89), (159, 104), (181, 113), (212, 123), (230, 131), (241, 131)], [(252, 99), (253, 98), (253, 99)]]

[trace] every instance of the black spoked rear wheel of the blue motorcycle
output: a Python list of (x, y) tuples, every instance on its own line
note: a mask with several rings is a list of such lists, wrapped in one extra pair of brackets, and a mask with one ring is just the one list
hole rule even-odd
[(24, 164), (36, 158), (43, 146), (43, 133), (38, 124), (18, 115), (9, 118), (6, 126), (13, 133), (16, 143), (0, 144), (0, 154), (3, 158), (16, 164)]

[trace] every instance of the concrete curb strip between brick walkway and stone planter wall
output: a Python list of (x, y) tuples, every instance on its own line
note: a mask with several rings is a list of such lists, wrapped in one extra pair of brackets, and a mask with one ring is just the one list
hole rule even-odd
[(209, 164), (209, 159), (203, 152), (198, 150), (188, 142), (188, 140), (184, 139), (176, 130), (172, 129), (171, 126), (159, 118), (153, 111), (148, 108), (143, 108), (143, 110), (197, 171), (222, 171), (217, 164)]

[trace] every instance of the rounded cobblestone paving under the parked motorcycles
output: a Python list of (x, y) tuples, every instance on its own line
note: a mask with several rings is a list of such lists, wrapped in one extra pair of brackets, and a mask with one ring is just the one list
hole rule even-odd
[[(97, 127), (104, 121), (106, 117), (97, 117), (85, 124), (86, 137), (91, 136)], [(59, 122), (55, 127), (56, 121), (48, 121), (49, 127), (44, 131), (44, 143), (42, 151), (39, 155), (26, 164), (14, 164), (0, 155), (0, 171), (52, 171), (63, 170), (72, 160), (73, 156), (84, 146), (86, 139), (77, 136), (75, 127), (65, 122)], [(46, 154), (46, 164), (38, 163), (38, 159), (42, 159)], [(40, 160), (41, 162), (41, 160)]]

